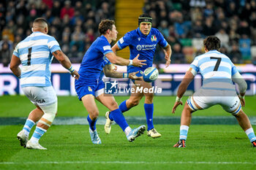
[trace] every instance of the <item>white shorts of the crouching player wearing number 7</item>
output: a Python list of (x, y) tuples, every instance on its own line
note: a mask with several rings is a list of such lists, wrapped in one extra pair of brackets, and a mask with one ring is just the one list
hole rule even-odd
[(193, 96), (187, 99), (187, 104), (193, 111), (198, 109), (195, 103), (202, 109), (219, 104), (226, 112), (230, 112), (233, 115), (236, 115), (241, 110), (241, 102), (236, 95), (236, 91), (230, 90), (197, 90)]

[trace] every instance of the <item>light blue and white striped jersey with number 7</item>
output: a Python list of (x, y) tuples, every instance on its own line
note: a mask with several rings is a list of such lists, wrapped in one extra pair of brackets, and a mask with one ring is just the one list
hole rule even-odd
[(190, 67), (202, 74), (203, 89), (236, 90), (232, 76), (238, 70), (227, 55), (211, 50), (197, 56)]

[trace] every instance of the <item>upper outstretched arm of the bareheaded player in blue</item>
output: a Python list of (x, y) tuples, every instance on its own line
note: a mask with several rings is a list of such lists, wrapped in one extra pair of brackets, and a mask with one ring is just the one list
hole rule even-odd
[(121, 57), (118, 57), (115, 53), (107, 53), (105, 55), (110, 63), (119, 65), (119, 66), (143, 66), (146, 65), (145, 62), (146, 60), (139, 60), (139, 54), (133, 59), (133, 60), (127, 60)]

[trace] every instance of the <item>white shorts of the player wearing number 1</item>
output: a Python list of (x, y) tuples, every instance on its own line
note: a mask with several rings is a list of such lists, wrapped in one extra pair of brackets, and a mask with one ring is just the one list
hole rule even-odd
[(53, 86), (49, 87), (24, 87), (24, 94), (29, 98), (32, 104), (37, 106), (49, 106), (57, 103), (56, 92)]

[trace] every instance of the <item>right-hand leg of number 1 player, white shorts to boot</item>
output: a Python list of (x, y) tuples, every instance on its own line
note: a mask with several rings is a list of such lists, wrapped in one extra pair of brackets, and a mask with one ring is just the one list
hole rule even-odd
[[(36, 129), (34, 130), (34, 134), (26, 144), (26, 147), (29, 149), (46, 150), (45, 147), (42, 147), (39, 144), (39, 139), (43, 134), (45, 134), (56, 117), (58, 107), (57, 96), (53, 90), (53, 87), (51, 86), (45, 88), (34, 87), (32, 90), (32, 96), (34, 96), (35, 100), (37, 101), (37, 105), (42, 112), (44, 112), (44, 115), (42, 115), (41, 118), (36, 117), (39, 119), (39, 121)], [(33, 117), (33, 115), (31, 115), (31, 117)]]

